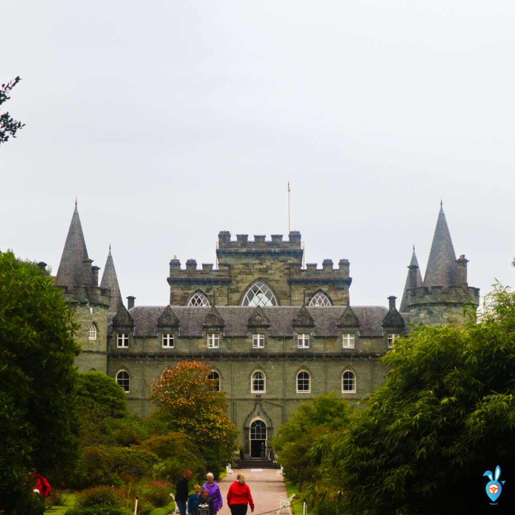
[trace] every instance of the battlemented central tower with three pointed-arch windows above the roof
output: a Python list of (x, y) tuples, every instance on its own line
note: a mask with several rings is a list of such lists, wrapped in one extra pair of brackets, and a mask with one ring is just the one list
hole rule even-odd
[(349, 261), (342, 259), (338, 268), (326, 259), (322, 268), (308, 263), (302, 268), (301, 235), (291, 231), (288, 240), (282, 234), (237, 234), (231, 239), (228, 231), (218, 233), (216, 256), (218, 269), (203, 263), (197, 269), (193, 259), (181, 269), (180, 261), (170, 261), (171, 305), (225, 306), (288, 306), (288, 305), (348, 305)]

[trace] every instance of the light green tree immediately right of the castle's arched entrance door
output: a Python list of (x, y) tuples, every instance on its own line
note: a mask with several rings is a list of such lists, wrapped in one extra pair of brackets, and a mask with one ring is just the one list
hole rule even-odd
[(325, 393), (299, 406), (272, 439), (273, 449), (288, 479), (302, 487), (315, 476), (316, 466), (306, 455), (313, 440), (349, 424), (352, 408), (336, 392)]

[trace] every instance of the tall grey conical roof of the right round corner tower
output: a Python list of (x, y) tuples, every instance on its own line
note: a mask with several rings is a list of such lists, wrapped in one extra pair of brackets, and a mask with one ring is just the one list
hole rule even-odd
[(456, 252), (440, 202), (433, 244), (425, 270), (424, 286), (455, 286), (458, 275)]

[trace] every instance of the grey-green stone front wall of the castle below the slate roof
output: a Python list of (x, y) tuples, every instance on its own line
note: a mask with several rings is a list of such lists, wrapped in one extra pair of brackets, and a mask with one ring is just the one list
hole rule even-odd
[[(152, 383), (166, 367), (174, 367), (181, 359), (196, 359), (209, 364), (220, 374), (221, 389), (227, 392), (228, 417), (240, 431), (238, 441), (246, 442), (245, 423), (260, 403), (270, 421), (266, 421), (268, 436), (283, 424), (299, 405), (329, 391), (356, 402), (373, 391), (386, 379), (387, 368), (379, 357), (387, 349), (385, 337), (358, 338), (353, 350), (341, 347), (340, 337), (317, 337), (309, 349), (298, 349), (292, 337), (268, 338), (264, 349), (252, 349), (248, 338), (224, 338), (220, 349), (208, 349), (205, 336), (176, 337), (173, 349), (163, 349), (160, 337), (129, 336), (128, 349), (116, 349), (115, 334), (110, 338), (108, 373), (112, 377), (120, 370), (129, 372), (129, 409), (148, 416), (153, 404), (147, 400)], [(251, 391), (253, 372), (265, 373), (265, 392)], [(356, 375), (356, 392), (342, 393), (341, 375), (351, 370)], [(307, 371), (311, 376), (311, 391), (297, 392), (297, 373)]]

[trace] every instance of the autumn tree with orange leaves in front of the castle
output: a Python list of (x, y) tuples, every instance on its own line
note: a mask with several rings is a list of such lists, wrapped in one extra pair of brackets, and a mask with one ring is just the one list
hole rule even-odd
[(208, 466), (220, 466), (232, 461), (238, 432), (225, 414), (225, 392), (208, 379), (210, 371), (203, 363), (181, 361), (155, 380), (149, 399), (157, 405), (152, 417), (195, 442)]

